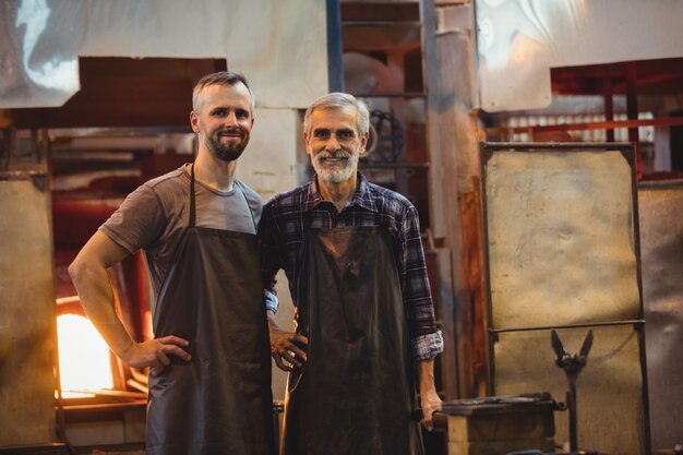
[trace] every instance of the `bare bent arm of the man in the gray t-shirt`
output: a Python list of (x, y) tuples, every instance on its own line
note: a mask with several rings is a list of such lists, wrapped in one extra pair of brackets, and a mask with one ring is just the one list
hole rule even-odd
[(159, 374), (170, 363), (169, 355), (190, 360), (190, 355), (180, 348), (189, 343), (176, 336), (143, 343), (131, 339), (116, 312), (113, 291), (107, 274), (107, 268), (128, 255), (128, 250), (98, 230), (69, 266), (69, 275), (79, 292), (83, 310), (111, 350), (129, 366), (149, 367), (152, 374)]

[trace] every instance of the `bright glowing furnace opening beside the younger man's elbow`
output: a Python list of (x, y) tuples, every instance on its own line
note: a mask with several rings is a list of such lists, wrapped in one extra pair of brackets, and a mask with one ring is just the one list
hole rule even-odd
[(59, 374), (64, 398), (94, 396), (80, 391), (113, 387), (109, 347), (86, 318), (77, 314), (58, 316), (57, 336)]

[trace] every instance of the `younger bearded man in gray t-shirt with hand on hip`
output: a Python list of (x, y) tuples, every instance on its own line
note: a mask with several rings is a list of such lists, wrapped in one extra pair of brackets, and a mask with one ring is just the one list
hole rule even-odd
[[(149, 370), (147, 455), (275, 452), (268, 330), (256, 242), (261, 199), (235, 179), (254, 123), (241, 74), (202, 77), (190, 123), (193, 164), (131, 193), (69, 273), (111, 350)], [(107, 268), (143, 250), (154, 338), (131, 339)]]

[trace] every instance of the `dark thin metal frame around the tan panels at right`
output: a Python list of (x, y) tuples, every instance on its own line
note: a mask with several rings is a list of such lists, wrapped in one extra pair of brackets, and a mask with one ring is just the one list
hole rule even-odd
[[(607, 321), (598, 323), (586, 324), (567, 324), (567, 325), (552, 325), (552, 326), (536, 326), (536, 327), (492, 327), (492, 304), (491, 304), (491, 284), (490, 284), (490, 268), (489, 268), (489, 224), (488, 224), (488, 211), (487, 211), (487, 176), (486, 166), (496, 152), (528, 152), (528, 153), (548, 153), (548, 152), (608, 152), (618, 151), (628, 163), (631, 168), (631, 191), (632, 191), (632, 219), (633, 219), (633, 239), (634, 239), (634, 252), (636, 256), (636, 279), (638, 286), (638, 319), (624, 320), (624, 321)], [(488, 352), (488, 378), (487, 378), (487, 391), (489, 395), (494, 395), (493, 379), (495, 374), (494, 366), (494, 351), (493, 346), (498, 340), (498, 334), (503, 332), (523, 332), (523, 331), (539, 331), (539, 330), (552, 330), (552, 328), (577, 328), (577, 327), (598, 327), (609, 325), (633, 325), (638, 336), (638, 357), (640, 360), (640, 375), (642, 375), (642, 394), (643, 394), (643, 417), (644, 417), (644, 444), (645, 453), (649, 455), (651, 453), (650, 442), (650, 422), (649, 422), (649, 404), (648, 404), (648, 384), (647, 384), (647, 362), (645, 358), (645, 319), (644, 319), (644, 303), (643, 303), (643, 282), (640, 272), (640, 234), (638, 228), (638, 196), (637, 196), (637, 177), (636, 177), (636, 151), (632, 143), (508, 143), (508, 142), (480, 142), (479, 143), (479, 158), (480, 158), (480, 175), (481, 175), (481, 213), (482, 213), (482, 236), (483, 236), (483, 253), (484, 253), (484, 273), (486, 273), (486, 292), (487, 292), (487, 332), (489, 334), (486, 347)]]

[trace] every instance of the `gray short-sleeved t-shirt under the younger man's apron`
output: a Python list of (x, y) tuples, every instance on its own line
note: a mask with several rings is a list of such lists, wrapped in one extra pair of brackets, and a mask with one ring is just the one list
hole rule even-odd
[[(180, 234), (190, 224), (189, 165), (152, 179), (125, 197), (99, 229), (131, 253), (145, 252), (155, 300), (173, 260)], [(196, 226), (256, 234), (261, 197), (235, 180), (216, 191), (195, 180)]]

